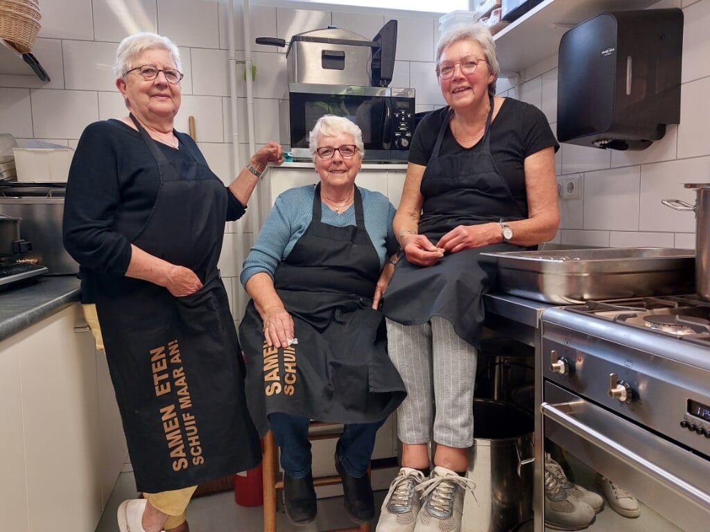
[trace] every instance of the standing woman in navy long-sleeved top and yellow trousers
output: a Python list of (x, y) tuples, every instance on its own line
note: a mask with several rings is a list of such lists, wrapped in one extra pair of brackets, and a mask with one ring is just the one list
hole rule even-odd
[(261, 148), (225, 187), (173, 128), (180, 69), (167, 38), (121, 42), (114, 73), (129, 114), (87, 126), (65, 198), (65, 247), (80, 264), (84, 315), (107, 353), (144, 496), (119, 506), (121, 532), (187, 532), (197, 484), (261, 460), (217, 260), (225, 222), (244, 214), (282, 150)]

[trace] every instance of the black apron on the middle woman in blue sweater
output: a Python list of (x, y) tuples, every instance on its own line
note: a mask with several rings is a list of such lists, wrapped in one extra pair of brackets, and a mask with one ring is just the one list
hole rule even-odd
[(318, 184), (312, 221), (276, 269), (275, 289), (293, 318), (296, 345), (266, 346), (261, 316), (253, 301), (246, 307), (239, 338), (247, 402), (260, 434), (272, 412), (371, 423), (385, 419), (405, 397), (387, 355), (383, 315), (372, 309), (381, 267), (357, 187), (354, 208), (356, 226), (322, 223)]

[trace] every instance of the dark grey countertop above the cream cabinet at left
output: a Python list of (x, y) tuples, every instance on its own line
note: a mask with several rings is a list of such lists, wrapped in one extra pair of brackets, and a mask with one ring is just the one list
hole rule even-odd
[(43, 275), (33, 284), (0, 292), (0, 341), (79, 301), (75, 275)]

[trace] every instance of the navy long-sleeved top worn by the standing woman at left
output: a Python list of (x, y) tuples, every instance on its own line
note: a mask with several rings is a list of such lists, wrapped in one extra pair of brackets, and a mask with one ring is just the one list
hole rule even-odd
[[(177, 135), (178, 150), (156, 143), (165, 157), (192, 161), (192, 153), (207, 165), (192, 138)], [(65, 248), (80, 264), (84, 303), (92, 300), (92, 276), (124, 275), (129, 266), (130, 238), (114, 231), (114, 221), (120, 216), (126, 234), (138, 234), (159, 189), (158, 163), (138, 131), (119, 120), (94, 122), (84, 129), (69, 171), (63, 222)], [(244, 206), (226, 187), (224, 194), (226, 220), (236, 220)]]

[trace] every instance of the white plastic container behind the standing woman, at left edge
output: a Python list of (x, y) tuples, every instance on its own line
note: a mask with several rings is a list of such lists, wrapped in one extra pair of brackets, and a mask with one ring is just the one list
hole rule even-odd
[(67, 182), (71, 148), (13, 148), (18, 182)]

